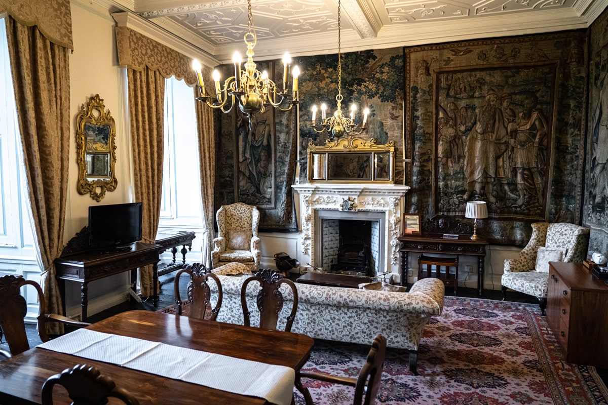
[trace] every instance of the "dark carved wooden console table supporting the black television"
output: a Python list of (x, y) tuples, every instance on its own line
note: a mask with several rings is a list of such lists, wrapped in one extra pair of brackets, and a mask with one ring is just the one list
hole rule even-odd
[[(82, 308), (82, 321), (86, 321), (88, 299), (88, 284), (91, 281), (123, 273), (131, 270), (131, 290), (135, 290), (137, 268), (148, 264), (153, 265), (153, 297), (152, 302), (157, 304), (158, 262), (160, 252), (165, 248), (151, 243), (135, 242), (128, 251), (112, 253), (83, 252), (66, 254), (55, 259), (57, 279), (63, 299), (65, 313), (66, 294), (65, 282), (80, 282), (80, 306)], [(64, 254), (66, 251), (64, 250)]]

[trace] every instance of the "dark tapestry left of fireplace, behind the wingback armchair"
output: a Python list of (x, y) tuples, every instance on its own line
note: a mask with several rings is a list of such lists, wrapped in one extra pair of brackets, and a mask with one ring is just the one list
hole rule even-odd
[[(282, 64), (259, 63), (258, 69), (274, 72), (271, 80), (282, 78)], [(232, 66), (224, 66), (223, 77), (231, 74)], [(297, 231), (291, 191), (295, 107), (287, 112), (271, 108), (251, 119), (237, 110), (235, 107), (229, 114), (219, 113), (216, 210), (234, 202), (255, 205), (260, 210), (258, 230)]]

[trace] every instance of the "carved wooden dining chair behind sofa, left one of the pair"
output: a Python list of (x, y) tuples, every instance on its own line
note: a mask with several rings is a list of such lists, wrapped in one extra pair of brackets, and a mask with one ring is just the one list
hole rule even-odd
[[(213, 274), (205, 265), (195, 263), (192, 266), (186, 264), (182, 270), (179, 270), (175, 274), (175, 304), (177, 307), (177, 314), (182, 315), (182, 299), (179, 294), (179, 277), (187, 273), (190, 275), (190, 281), (188, 281), (188, 287), (186, 290), (188, 300), (190, 301), (190, 311), (188, 311), (189, 318), (205, 319), (207, 309), (211, 311), (209, 319), (215, 321), (218, 318), (219, 308), (222, 306), (222, 284), (219, 281), (218, 276)], [(215, 307), (211, 307), (211, 289), (207, 282), (209, 279), (213, 279), (215, 284), (218, 286), (218, 299)]]

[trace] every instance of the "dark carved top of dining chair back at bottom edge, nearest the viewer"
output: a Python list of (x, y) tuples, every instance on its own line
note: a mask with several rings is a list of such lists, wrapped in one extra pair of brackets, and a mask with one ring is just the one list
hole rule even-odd
[(118, 398), (126, 405), (139, 405), (133, 395), (88, 364), (77, 364), (47, 378), (42, 386), (42, 405), (53, 405), (53, 387), (57, 384), (67, 390), (74, 401), (72, 405), (105, 405), (108, 398)]

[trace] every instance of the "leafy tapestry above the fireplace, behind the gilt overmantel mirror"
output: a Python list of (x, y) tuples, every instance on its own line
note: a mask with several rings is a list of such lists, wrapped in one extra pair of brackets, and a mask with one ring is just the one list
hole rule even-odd
[[(304, 56), (300, 66), (299, 106), (299, 181), (306, 182), (306, 149), (310, 142), (322, 146), (328, 140), (312, 126), (311, 107), (327, 104), (327, 114), (337, 108), (337, 54)], [(342, 114), (350, 114), (352, 103), (357, 105), (358, 123), (365, 107), (370, 109), (368, 130), (359, 135), (376, 144), (395, 143), (395, 183), (404, 182), (403, 131), (403, 49), (365, 50), (342, 53)]]

